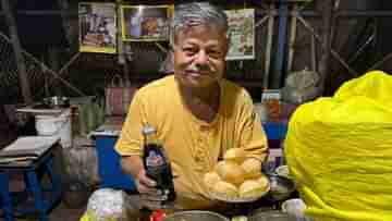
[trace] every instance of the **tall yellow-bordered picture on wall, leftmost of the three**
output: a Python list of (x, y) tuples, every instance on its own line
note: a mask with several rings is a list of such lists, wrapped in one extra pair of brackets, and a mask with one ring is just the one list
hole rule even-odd
[(117, 52), (115, 4), (81, 2), (78, 4), (79, 51)]

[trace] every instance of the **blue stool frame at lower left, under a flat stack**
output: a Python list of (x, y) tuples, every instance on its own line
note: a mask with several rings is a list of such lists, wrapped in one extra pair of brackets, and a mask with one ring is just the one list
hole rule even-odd
[[(0, 164), (0, 199), (2, 199), (0, 206), (3, 209), (5, 221), (13, 221), (16, 214), (28, 213), (37, 213), (39, 221), (48, 221), (47, 212), (61, 199), (61, 180), (59, 174), (53, 172), (56, 147), (58, 147), (58, 143), (33, 161)], [(40, 170), (50, 177), (49, 188), (44, 188), (41, 185), (38, 174)], [(25, 189), (23, 192), (10, 192), (9, 184), (12, 173), (24, 174)], [(34, 200), (33, 208), (28, 207), (28, 199)]]

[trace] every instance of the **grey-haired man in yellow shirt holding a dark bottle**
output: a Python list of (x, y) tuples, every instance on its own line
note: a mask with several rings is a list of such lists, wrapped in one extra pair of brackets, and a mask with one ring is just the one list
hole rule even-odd
[(210, 3), (175, 5), (171, 45), (174, 74), (140, 88), (115, 145), (122, 168), (134, 177), (143, 204), (163, 200), (143, 167), (144, 125), (157, 130), (169, 156), (181, 209), (217, 206), (203, 176), (229, 148), (265, 160), (267, 137), (248, 93), (224, 79), (229, 49), (225, 13)]

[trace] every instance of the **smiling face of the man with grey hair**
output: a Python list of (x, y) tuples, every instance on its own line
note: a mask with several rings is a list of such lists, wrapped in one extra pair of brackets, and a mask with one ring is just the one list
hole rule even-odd
[(218, 28), (194, 26), (174, 39), (174, 75), (186, 87), (208, 87), (223, 77), (228, 38)]

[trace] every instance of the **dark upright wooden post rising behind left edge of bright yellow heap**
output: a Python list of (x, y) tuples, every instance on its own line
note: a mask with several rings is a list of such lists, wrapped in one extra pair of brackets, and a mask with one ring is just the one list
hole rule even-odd
[(321, 58), (319, 62), (320, 69), (320, 94), (322, 95), (326, 87), (326, 78), (330, 71), (331, 60), (331, 32), (334, 0), (321, 1), (322, 9), (322, 36), (321, 36)]

